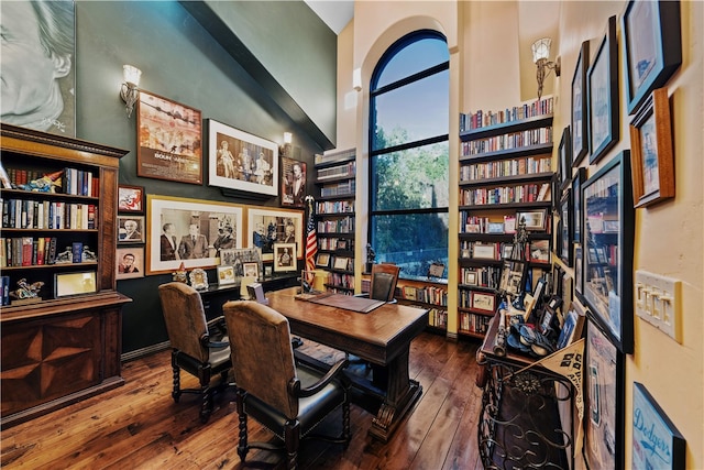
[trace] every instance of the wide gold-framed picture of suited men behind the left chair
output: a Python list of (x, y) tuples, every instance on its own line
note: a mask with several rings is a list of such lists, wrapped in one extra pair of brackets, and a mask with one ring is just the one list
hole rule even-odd
[(242, 206), (147, 195), (146, 211), (146, 274), (175, 271), (182, 262), (186, 269), (220, 264), (213, 243), (226, 231), (234, 237), (232, 248), (242, 247)]

